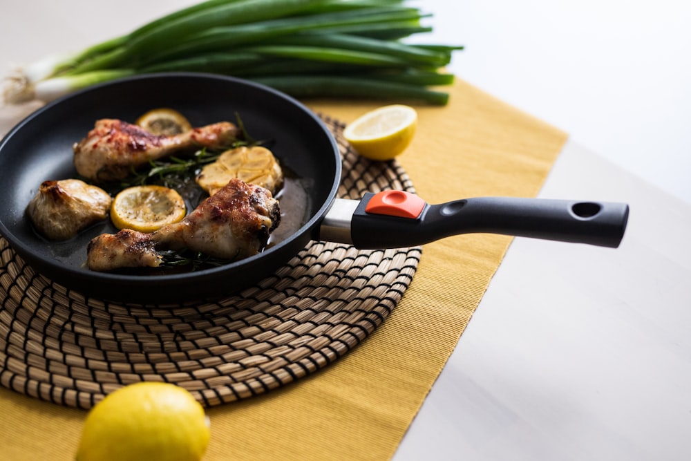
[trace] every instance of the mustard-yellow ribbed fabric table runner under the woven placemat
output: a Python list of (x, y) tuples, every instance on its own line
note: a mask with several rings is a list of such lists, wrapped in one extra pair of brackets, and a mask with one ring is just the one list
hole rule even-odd
[[(567, 135), (458, 81), (451, 103), (417, 107), (399, 158), (420, 196), (535, 196)], [(342, 122), (381, 105), (308, 102)], [(209, 409), (205, 460), (390, 458), (455, 348), (511, 238), (475, 234), (425, 245), (392, 314), (324, 370), (276, 391)], [(0, 387), (0, 458), (70, 460), (86, 413)]]

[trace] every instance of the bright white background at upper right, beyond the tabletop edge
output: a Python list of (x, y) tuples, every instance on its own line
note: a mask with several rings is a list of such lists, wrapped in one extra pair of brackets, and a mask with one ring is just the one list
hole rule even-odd
[(453, 73), (691, 203), (691, 2), (415, 4)]

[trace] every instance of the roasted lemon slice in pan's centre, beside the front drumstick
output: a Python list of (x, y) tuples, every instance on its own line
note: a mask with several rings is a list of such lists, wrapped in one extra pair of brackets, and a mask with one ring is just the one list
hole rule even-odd
[(153, 232), (177, 223), (185, 215), (177, 191), (162, 186), (135, 186), (120, 191), (111, 205), (111, 220), (118, 229)]

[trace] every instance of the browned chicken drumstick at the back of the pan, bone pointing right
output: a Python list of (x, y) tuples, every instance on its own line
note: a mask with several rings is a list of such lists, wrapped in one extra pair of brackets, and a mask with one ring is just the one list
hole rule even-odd
[(97, 120), (86, 138), (73, 145), (77, 173), (97, 182), (126, 178), (133, 169), (174, 153), (206, 147), (224, 149), (241, 135), (230, 122), (218, 122), (178, 135), (155, 135), (115, 119)]

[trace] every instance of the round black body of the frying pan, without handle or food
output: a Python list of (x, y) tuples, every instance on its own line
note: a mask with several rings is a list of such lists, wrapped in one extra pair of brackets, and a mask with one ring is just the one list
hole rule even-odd
[[(121, 281), (160, 285), (161, 278), (199, 278), (206, 270), (171, 276), (101, 274), (84, 267), (86, 245), (94, 236), (113, 232), (110, 223), (94, 225), (64, 242), (50, 242), (25, 217), (29, 200), (44, 180), (76, 176), (72, 146), (84, 138), (100, 118), (134, 122), (142, 113), (169, 107), (187, 116), (193, 126), (221, 120), (234, 122), (236, 114), (258, 140), (270, 140), (281, 162), (301, 178), (311, 203), (310, 218), (294, 236), (258, 256), (285, 252), (309, 240), (336, 194), (340, 157), (336, 142), (319, 117), (292, 98), (232, 77), (178, 73), (144, 75), (89, 88), (48, 104), (15, 127), (0, 144), (0, 232), (20, 256), (39, 265), (61, 283), (77, 276), (94, 283)], [(253, 256), (257, 258), (257, 256)], [(243, 261), (218, 270), (232, 269)]]

